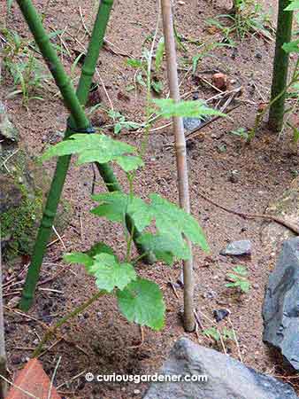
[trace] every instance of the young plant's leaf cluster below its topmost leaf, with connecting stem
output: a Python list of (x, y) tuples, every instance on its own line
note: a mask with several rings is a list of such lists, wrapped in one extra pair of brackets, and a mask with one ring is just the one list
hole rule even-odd
[[(138, 276), (134, 266), (133, 236), (126, 231), (126, 215), (141, 231), (138, 242), (158, 261), (172, 265), (175, 260), (189, 259), (190, 249), (185, 237), (193, 244), (208, 250), (203, 231), (196, 219), (157, 194), (145, 201), (134, 195), (134, 170), (142, 167), (142, 159), (131, 145), (118, 142), (103, 134), (75, 134), (50, 149), (42, 156), (78, 155), (78, 164), (86, 162), (116, 162), (126, 172), (130, 192), (106, 192), (92, 198), (98, 206), (92, 214), (105, 217), (122, 226), (126, 239), (126, 253), (117, 256), (110, 246), (96, 243), (86, 253), (65, 254), (65, 262), (83, 264), (88, 274), (94, 276), (96, 287), (105, 294), (115, 295), (119, 311), (130, 322), (148, 325), (159, 330), (164, 325), (165, 304), (159, 286)], [(152, 233), (152, 227), (155, 233)]]

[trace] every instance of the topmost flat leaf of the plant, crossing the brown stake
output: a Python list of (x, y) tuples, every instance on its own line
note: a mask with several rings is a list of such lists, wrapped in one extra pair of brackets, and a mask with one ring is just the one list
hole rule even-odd
[(200, 118), (204, 115), (226, 116), (216, 109), (209, 108), (203, 101), (183, 101), (176, 103), (173, 98), (154, 99), (153, 102), (159, 108), (159, 113), (163, 118), (172, 118), (173, 116)]

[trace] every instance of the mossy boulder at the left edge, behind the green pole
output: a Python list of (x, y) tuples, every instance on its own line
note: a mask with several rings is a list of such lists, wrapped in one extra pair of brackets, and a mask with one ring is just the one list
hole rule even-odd
[[(19, 132), (0, 101), (0, 223), (6, 259), (31, 253), (49, 187), (49, 176), (19, 143)], [(58, 214), (56, 227), (61, 232), (69, 217), (65, 201)]]

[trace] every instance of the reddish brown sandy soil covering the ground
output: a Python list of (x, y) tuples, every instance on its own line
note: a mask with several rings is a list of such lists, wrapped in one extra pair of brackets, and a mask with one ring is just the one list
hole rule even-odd
[[(4, 4), (4, 0), (1, 1)], [(47, 4), (46, 0), (36, 1), (39, 11)], [(142, 43), (146, 37), (154, 32), (156, 24), (156, 2), (123, 1), (116, 2), (107, 39), (118, 46), (121, 51), (128, 52), (134, 57), (140, 57)], [(204, 20), (227, 12), (230, 4), (215, 4), (199, 1), (185, 2), (177, 6), (177, 27), (181, 35), (199, 40), (215, 41), (219, 33), (208, 34), (204, 30)], [(81, 4), (81, 5), (80, 5)], [(82, 2), (50, 2), (49, 16), (46, 18), (47, 27), (64, 29), (65, 40), (69, 34), (86, 44), (87, 36), (80, 21), (78, 12), (81, 6), (83, 16), (88, 27), (92, 15), (92, 5)], [(11, 26), (19, 33), (27, 32), (16, 5), (12, 9)], [(161, 31), (159, 31), (159, 35)], [(26, 35), (26, 33), (24, 33)], [(196, 54), (196, 45), (186, 43), (188, 59)], [(68, 49), (81, 50), (80, 44), (72, 38), (67, 42)], [(73, 52), (72, 52), (73, 54)], [(259, 372), (280, 374), (280, 360), (272, 356), (269, 349), (262, 343), (262, 317), (265, 283), (269, 271), (270, 254), (261, 245), (259, 232), (260, 221), (242, 220), (227, 214), (218, 207), (213, 207), (197, 195), (198, 190), (206, 192), (211, 199), (226, 207), (242, 210), (248, 213), (263, 213), (269, 200), (278, 198), (288, 187), (297, 170), (298, 160), (289, 150), (289, 139), (277, 141), (265, 129), (260, 131), (252, 145), (245, 146), (235, 137), (227, 134), (232, 129), (250, 128), (255, 120), (257, 106), (263, 98), (269, 96), (271, 81), (273, 43), (265, 43), (261, 37), (247, 38), (239, 43), (238, 51), (233, 56), (232, 49), (215, 51), (215, 58), (203, 59), (198, 71), (215, 69), (228, 74), (229, 79), (239, 82), (244, 87), (243, 99), (249, 99), (240, 108), (231, 113), (232, 119), (216, 121), (203, 129), (201, 140), (194, 140), (188, 149), (188, 166), (190, 178), (190, 193), (192, 213), (199, 220), (206, 232), (211, 245), (211, 256), (206, 256), (195, 249), (196, 270), (196, 309), (206, 317), (212, 319), (213, 309), (228, 308), (231, 310), (231, 321), (238, 337), (242, 359), (245, 364), (254, 367)], [(180, 61), (184, 56), (180, 53)], [(64, 59), (69, 69), (73, 59)], [(126, 93), (125, 87), (132, 83), (134, 70), (126, 66), (126, 58), (102, 51), (98, 66), (99, 73), (109, 93), (115, 110), (125, 114), (127, 119), (142, 121), (142, 108), (145, 93), (134, 91)], [(79, 73), (79, 71), (78, 71)], [(180, 71), (180, 80), (185, 71)], [(198, 76), (199, 73), (196, 74)], [(211, 79), (207, 74), (206, 78)], [(98, 77), (96, 81), (99, 82)], [(254, 90), (254, 83), (257, 89)], [(191, 75), (184, 79), (182, 92), (196, 90), (198, 79)], [(4, 94), (11, 88), (3, 87)], [(215, 92), (211, 88), (202, 86), (198, 89), (202, 98), (209, 98)], [(259, 93), (262, 93), (260, 95)], [(124, 97), (126, 94), (128, 98)], [(166, 94), (166, 93), (165, 93)], [(48, 145), (53, 133), (65, 128), (66, 111), (60, 100), (53, 97), (48, 90), (42, 93), (44, 101), (32, 100), (28, 109), (21, 106), (19, 98), (7, 100), (12, 120), (19, 128), (21, 137), (30, 151), (38, 155), (44, 146)], [(109, 107), (109, 102), (101, 89), (103, 103)], [(94, 123), (101, 118), (100, 113), (93, 117)], [(142, 134), (130, 133), (120, 137), (135, 145), (142, 142)], [(136, 193), (146, 197), (149, 192), (158, 192), (168, 200), (177, 201), (177, 184), (175, 155), (169, 146), (172, 140), (172, 130), (165, 129), (153, 132), (149, 137), (149, 147), (145, 155), (146, 168), (138, 172), (135, 181)], [(221, 149), (226, 146), (226, 152)], [(47, 165), (53, 170), (54, 161)], [(232, 170), (239, 171), (239, 181), (229, 180)], [(126, 178), (119, 171), (119, 180), (126, 184)], [(64, 243), (67, 251), (85, 250), (97, 240), (104, 240), (113, 246), (116, 252), (123, 254), (124, 241), (122, 231), (115, 225), (89, 215), (93, 172), (91, 166), (77, 168), (72, 165), (65, 184), (65, 198), (73, 206), (72, 224), (64, 232)], [(99, 180), (97, 191), (104, 187)], [(219, 250), (226, 243), (234, 239), (250, 239), (253, 245), (251, 258), (241, 261), (229, 259), (219, 255)], [(66, 266), (61, 260), (64, 248), (60, 243), (50, 246), (42, 267), (42, 279), (53, 277), (62, 270), (58, 278), (54, 278), (45, 288), (58, 292), (39, 291), (36, 295), (35, 307), (30, 311), (29, 319), (23, 315), (6, 312), (6, 340), (9, 356), (9, 367), (14, 373), (32, 354), (31, 348), (45, 333), (46, 325), (53, 325), (56, 320), (65, 315), (73, 307), (86, 301), (91, 293), (96, 292), (92, 278), (88, 278), (83, 267)], [(234, 295), (226, 287), (226, 272), (234, 267), (234, 263), (241, 263), (249, 269), (249, 280), (252, 289), (247, 295)], [(21, 264), (14, 266), (21, 269)], [(157, 371), (163, 363), (173, 342), (184, 335), (180, 308), (182, 305), (182, 291), (177, 289), (179, 298), (173, 292), (168, 282), (175, 282), (180, 275), (180, 264), (172, 269), (157, 264), (155, 266), (140, 266), (140, 272), (147, 278), (157, 281), (165, 294), (167, 306), (166, 325), (161, 332), (144, 329), (145, 337), (142, 345), (140, 328), (129, 325), (124, 317), (119, 315), (117, 305), (111, 297), (103, 297), (90, 307), (83, 315), (65, 325), (58, 335), (58, 340), (41, 356), (44, 369), (50, 374), (61, 356), (56, 385), (73, 379), (80, 372), (94, 372), (108, 374), (112, 372), (144, 374)], [(207, 293), (213, 291), (216, 297), (207, 298)], [(9, 301), (10, 296), (7, 297)], [(211, 322), (202, 317), (203, 326), (211, 327)], [(230, 325), (227, 321), (222, 325)], [(188, 335), (197, 340), (196, 334)], [(205, 346), (211, 342), (199, 335), (199, 342)], [(135, 348), (134, 348), (135, 347)], [(137, 347), (137, 348), (136, 348)], [(233, 343), (227, 344), (232, 356), (238, 358), (237, 348)], [(221, 350), (221, 348), (219, 348)], [(146, 389), (145, 384), (139, 386), (130, 384), (86, 383), (81, 377), (73, 379), (58, 390), (65, 398), (102, 398), (127, 399), (142, 397)], [(139, 390), (134, 393), (134, 390)]]

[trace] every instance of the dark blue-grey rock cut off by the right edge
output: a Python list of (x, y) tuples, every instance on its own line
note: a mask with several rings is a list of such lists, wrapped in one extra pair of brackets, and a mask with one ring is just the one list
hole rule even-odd
[(283, 243), (266, 288), (263, 318), (265, 342), (299, 371), (299, 238)]

